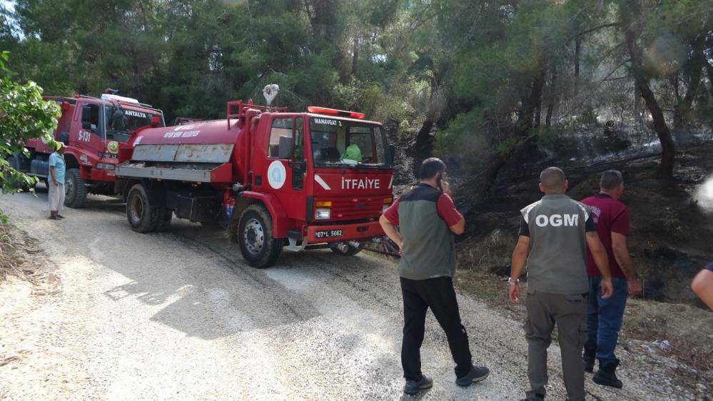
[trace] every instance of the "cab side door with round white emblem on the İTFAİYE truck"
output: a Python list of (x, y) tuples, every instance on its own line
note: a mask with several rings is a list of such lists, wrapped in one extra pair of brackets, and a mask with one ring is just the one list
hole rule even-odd
[(304, 221), (306, 215), (304, 142), (302, 117), (273, 118), (263, 177), (268, 181), (268, 191), (278, 197), (288, 218), (299, 221)]

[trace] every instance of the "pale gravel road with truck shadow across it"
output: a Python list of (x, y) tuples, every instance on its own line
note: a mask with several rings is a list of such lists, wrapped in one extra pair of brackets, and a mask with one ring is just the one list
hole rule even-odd
[[(249, 267), (226, 235), (185, 220), (138, 234), (123, 204), (91, 196), (47, 219), (46, 193), (0, 196), (11, 222), (38, 238), (49, 295), (0, 288), (0, 398), (11, 400), (394, 400), (402, 393), (401, 295), (395, 263), (329, 250), (283, 253)], [(24, 288), (21, 285), (17, 288)], [(504, 289), (505, 290), (505, 289)], [(459, 294), (477, 385), (455, 385), (433, 315), (422, 348), (434, 378), (423, 400), (517, 400), (527, 379), (519, 323)], [(587, 384), (591, 399), (656, 400), (642, 377), (624, 390)], [(565, 398), (550, 348), (550, 399)], [(587, 379), (590, 382), (590, 379)]]

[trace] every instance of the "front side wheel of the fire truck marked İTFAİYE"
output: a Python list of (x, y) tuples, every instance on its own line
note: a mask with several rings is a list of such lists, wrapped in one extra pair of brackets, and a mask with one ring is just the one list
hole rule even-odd
[(285, 240), (273, 238), (270, 213), (263, 205), (249, 205), (238, 224), (238, 243), (243, 258), (253, 268), (268, 268), (280, 257)]

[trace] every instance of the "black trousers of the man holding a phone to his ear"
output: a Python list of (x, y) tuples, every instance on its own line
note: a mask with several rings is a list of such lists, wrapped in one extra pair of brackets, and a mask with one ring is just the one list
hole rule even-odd
[(401, 345), (401, 365), (406, 380), (421, 380), (421, 354), (425, 330), (426, 312), (431, 308), (433, 315), (445, 331), (450, 353), (455, 361), (455, 375), (460, 378), (472, 368), (472, 356), (468, 335), (460, 323), (458, 302), (455, 298), (453, 280), (450, 277), (409, 280), (401, 278), (403, 293), (403, 344)]

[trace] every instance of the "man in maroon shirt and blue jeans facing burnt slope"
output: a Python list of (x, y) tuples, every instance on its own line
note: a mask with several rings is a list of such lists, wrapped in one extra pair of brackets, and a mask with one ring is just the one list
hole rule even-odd
[(614, 350), (622, 326), (627, 295), (634, 296), (642, 290), (636, 280), (634, 263), (627, 248), (629, 210), (619, 200), (623, 192), (622, 173), (609, 170), (602, 173), (600, 193), (582, 200), (582, 203), (592, 208), (592, 218), (597, 223), (597, 233), (607, 250), (614, 285), (611, 298), (602, 299), (600, 290), (602, 276), (592, 254), (587, 250), (590, 297), (587, 307), (587, 342), (582, 360), (585, 370), (592, 372), (596, 357), (599, 360), (599, 370), (592, 380), (599, 385), (617, 388), (622, 387), (622, 382), (615, 372), (619, 360)]

